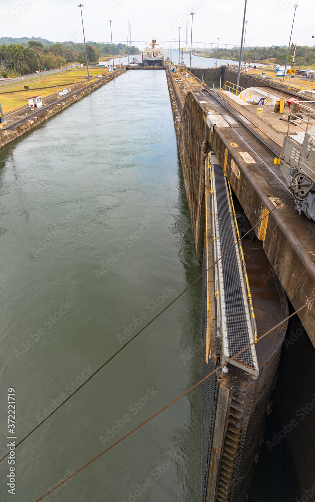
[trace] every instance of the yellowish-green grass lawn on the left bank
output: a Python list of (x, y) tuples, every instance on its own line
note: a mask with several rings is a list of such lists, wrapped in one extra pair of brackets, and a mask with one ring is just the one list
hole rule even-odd
[[(100, 73), (104, 73), (104, 68), (89, 68), (89, 73), (91, 77), (97, 77)], [(71, 87), (74, 83), (84, 81), (84, 76), (87, 75), (86, 67), (83, 68), (73, 68), (70, 71), (64, 71), (60, 73), (56, 73), (54, 75), (45, 76), (45, 73), (42, 73), (41, 77), (38, 77), (32, 81), (28, 82), (19, 82), (17, 84), (8, 85), (3, 88), (2, 92), (0, 92), (1, 105), (4, 113), (9, 113), (10, 111), (16, 110), (21, 106), (24, 106), (27, 103), (27, 98), (34, 96), (35, 94), (42, 95), (43, 98), (45, 96), (49, 96), (56, 91), (56, 82), (58, 91), (62, 90), (65, 87)], [(24, 86), (28, 85), (29, 90), (25, 91)], [(52, 87), (54, 86), (54, 88)], [(50, 87), (50, 88), (49, 88)], [(39, 89), (40, 90), (34, 90)], [(33, 89), (33, 90), (32, 90)], [(5, 94), (7, 91), (18, 91), (21, 92), (13, 92), (12, 94)]]

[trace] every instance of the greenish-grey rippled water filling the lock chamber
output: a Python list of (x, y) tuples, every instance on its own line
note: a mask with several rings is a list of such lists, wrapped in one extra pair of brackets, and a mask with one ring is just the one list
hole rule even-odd
[[(0, 155), (3, 454), (8, 387), (20, 440), (200, 267), (164, 72), (119, 76)], [(17, 448), (16, 502), (35, 501), (199, 380), (200, 314), (198, 282)], [(6, 460), (0, 472), (11, 500)], [(199, 389), (45, 500), (135, 496), (200, 498)]]

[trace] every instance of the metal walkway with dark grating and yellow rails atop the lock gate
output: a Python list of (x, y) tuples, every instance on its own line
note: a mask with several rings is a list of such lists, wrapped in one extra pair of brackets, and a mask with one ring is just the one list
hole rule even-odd
[[(245, 260), (227, 179), (214, 153), (210, 155), (211, 212), (217, 309), (216, 339), (221, 341), (221, 364), (255, 341), (256, 323), (246, 274)], [(226, 253), (226, 254), (225, 254)], [(258, 375), (255, 347), (232, 361)]]

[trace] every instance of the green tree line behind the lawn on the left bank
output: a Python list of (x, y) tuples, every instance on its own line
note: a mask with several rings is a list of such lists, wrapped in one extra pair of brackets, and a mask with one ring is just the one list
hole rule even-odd
[[(139, 50), (125, 44), (86, 44), (89, 63), (99, 61), (102, 55), (139, 54)], [(84, 44), (74, 42), (57, 43), (44, 46), (42, 42), (29, 40), (22, 44), (0, 45), (1, 75), (26, 75), (37, 70), (60, 68), (72, 62), (86, 64)]]

